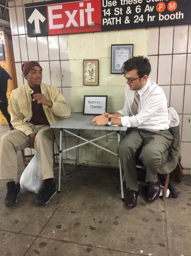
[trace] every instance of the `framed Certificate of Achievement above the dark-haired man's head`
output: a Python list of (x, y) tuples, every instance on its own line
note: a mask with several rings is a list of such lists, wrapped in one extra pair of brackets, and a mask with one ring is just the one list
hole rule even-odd
[(121, 74), (123, 63), (133, 57), (133, 45), (112, 45), (111, 73)]

